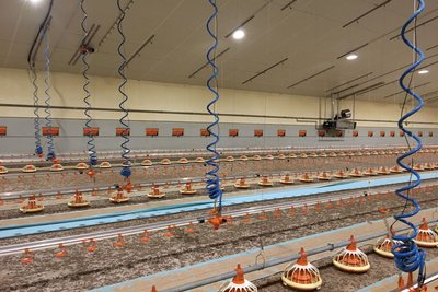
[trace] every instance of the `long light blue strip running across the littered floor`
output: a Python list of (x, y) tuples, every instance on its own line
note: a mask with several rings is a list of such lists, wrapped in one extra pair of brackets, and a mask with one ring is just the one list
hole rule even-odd
[[(318, 187), (309, 186), (309, 187), (301, 187), (297, 189), (286, 189), (286, 190), (270, 190), (270, 191), (264, 190), (263, 192), (256, 192), (252, 195), (233, 196), (229, 198), (226, 197), (222, 201), (222, 206), (232, 206), (243, 202), (258, 202), (273, 199), (293, 198), (293, 197), (301, 197), (309, 195), (320, 195), (325, 192), (360, 189), (368, 187), (379, 187), (385, 185), (406, 183), (408, 178), (410, 178), (408, 175), (404, 175), (396, 177), (372, 178), (372, 179), (356, 180), (356, 182), (355, 180), (342, 182)], [(438, 178), (438, 173), (436, 172), (422, 174), (422, 179), (435, 179), (435, 178)], [(0, 238), (13, 237), (18, 235), (37, 234), (42, 232), (70, 230), (83, 226), (93, 226), (103, 223), (115, 223), (115, 222), (164, 215), (164, 214), (175, 214), (180, 212), (201, 210), (201, 209), (210, 209), (211, 205), (212, 205), (211, 200), (201, 200), (198, 202), (175, 203), (172, 206), (146, 208), (127, 212), (115, 212), (102, 215), (61, 220), (55, 222), (4, 226), (0, 227)]]

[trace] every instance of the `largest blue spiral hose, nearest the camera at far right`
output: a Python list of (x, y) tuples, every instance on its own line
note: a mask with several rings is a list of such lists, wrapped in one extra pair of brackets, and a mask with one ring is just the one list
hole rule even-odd
[(424, 0), (416, 0), (416, 1), (418, 3), (418, 8), (414, 12), (414, 14), (412, 14), (411, 17), (403, 25), (401, 36), (402, 36), (403, 42), (410, 48), (412, 48), (412, 50), (415, 51), (415, 54), (417, 56), (419, 56), (419, 58), (410, 68), (407, 68), (406, 71), (403, 72), (403, 74), (401, 75), (401, 78), (399, 80), (399, 84), (406, 92), (406, 94), (413, 96), (418, 102), (418, 104), (414, 109), (406, 113), (405, 115), (403, 115), (400, 118), (399, 129), (401, 129), (408, 137), (412, 137), (417, 142), (417, 145), (415, 147), (415, 149), (410, 148), (408, 152), (404, 153), (396, 160), (397, 164), (401, 167), (407, 170), (412, 175), (414, 175), (416, 177), (416, 180), (412, 182), (410, 185), (402, 187), (395, 191), (399, 197), (403, 198), (406, 202), (407, 201), (411, 202), (415, 207), (415, 210), (413, 210), (408, 213), (402, 212), (401, 214), (394, 215), (396, 221), (401, 221), (402, 223), (408, 225), (413, 232), (410, 235), (393, 235), (392, 237), (394, 241), (401, 241), (402, 243), (395, 244), (392, 247), (392, 253), (394, 254), (395, 265), (400, 270), (402, 270), (404, 272), (413, 272), (413, 271), (419, 269), (418, 270), (418, 283), (422, 284), (424, 282), (424, 278), (425, 278), (425, 276), (424, 276), (425, 253), (424, 253), (424, 250), (418, 249), (418, 246), (413, 241), (418, 234), (418, 229), (415, 226), (415, 224), (407, 221), (407, 218), (417, 214), (420, 210), (418, 202), (410, 197), (410, 190), (419, 186), (419, 184), (422, 183), (422, 179), (420, 179), (419, 174), (416, 171), (414, 171), (412, 167), (410, 167), (408, 165), (403, 163), (404, 159), (415, 154), (418, 150), (422, 149), (422, 140), (416, 135), (414, 135), (411, 130), (403, 127), (404, 121), (407, 118), (410, 118), (412, 115), (417, 113), (419, 109), (422, 109), (422, 107), (424, 105), (422, 97), (404, 84), (404, 79), (408, 74), (411, 74), (415, 70), (415, 68), (418, 67), (418, 65), (422, 63), (424, 60), (424, 54), (414, 44), (412, 44), (406, 38), (406, 35), (405, 35), (407, 26), (413, 21), (415, 21), (416, 17), (418, 16), (418, 14), (422, 13), (423, 10), (425, 9)]

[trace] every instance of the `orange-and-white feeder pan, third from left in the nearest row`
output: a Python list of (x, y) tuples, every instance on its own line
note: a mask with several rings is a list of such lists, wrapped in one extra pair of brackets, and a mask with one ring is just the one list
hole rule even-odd
[(350, 244), (333, 257), (333, 265), (347, 272), (366, 272), (370, 269), (367, 255), (357, 248), (355, 237), (351, 235)]

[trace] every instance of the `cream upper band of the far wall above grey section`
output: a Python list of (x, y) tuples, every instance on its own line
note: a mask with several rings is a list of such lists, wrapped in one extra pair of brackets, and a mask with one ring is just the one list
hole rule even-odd
[[(43, 73), (38, 75), (41, 104), (44, 102)], [(119, 79), (91, 77), (90, 91), (93, 107), (118, 108), (122, 98), (117, 87)], [(83, 79), (80, 74), (51, 73), (51, 105), (84, 106)], [(0, 103), (33, 104), (33, 87), (26, 70), (0, 68)], [(175, 110), (175, 112), (206, 112), (205, 106), (211, 94), (203, 86), (169, 84), (148, 81), (129, 80), (127, 85), (129, 95), (128, 108)], [(221, 114), (272, 115), (318, 118), (320, 98), (287, 94), (273, 94), (238, 90), (220, 90), (221, 100), (217, 110)], [(353, 102), (342, 103), (342, 108), (351, 108)], [(327, 107), (328, 107), (327, 103)], [(328, 108), (327, 108), (328, 110)], [(324, 103), (321, 104), (324, 114)], [(327, 112), (330, 113), (330, 110)], [(118, 119), (114, 112), (93, 112), (95, 119)], [(32, 108), (0, 107), (0, 117), (32, 117)], [(396, 120), (400, 107), (394, 104), (374, 104), (356, 102), (356, 118), (368, 120)], [(54, 118), (83, 118), (80, 110), (54, 109)], [(131, 113), (131, 120), (171, 120), (171, 121), (209, 121), (208, 116), (140, 114)], [(257, 124), (297, 124), (292, 119), (262, 119), (250, 117), (222, 117), (224, 122), (257, 122)], [(438, 122), (437, 108), (428, 107), (415, 116), (416, 121)], [(309, 124), (309, 122), (307, 122)], [(311, 124), (311, 122), (310, 122)], [(359, 121), (358, 126), (394, 126), (389, 122)], [(422, 125), (423, 128), (434, 125)]]

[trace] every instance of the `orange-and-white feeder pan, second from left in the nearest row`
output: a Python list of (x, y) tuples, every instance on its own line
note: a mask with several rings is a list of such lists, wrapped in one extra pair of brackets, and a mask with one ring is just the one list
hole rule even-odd
[(301, 257), (297, 264), (289, 264), (281, 275), (283, 284), (299, 291), (313, 291), (321, 287), (320, 271), (308, 261), (308, 256), (301, 247)]

